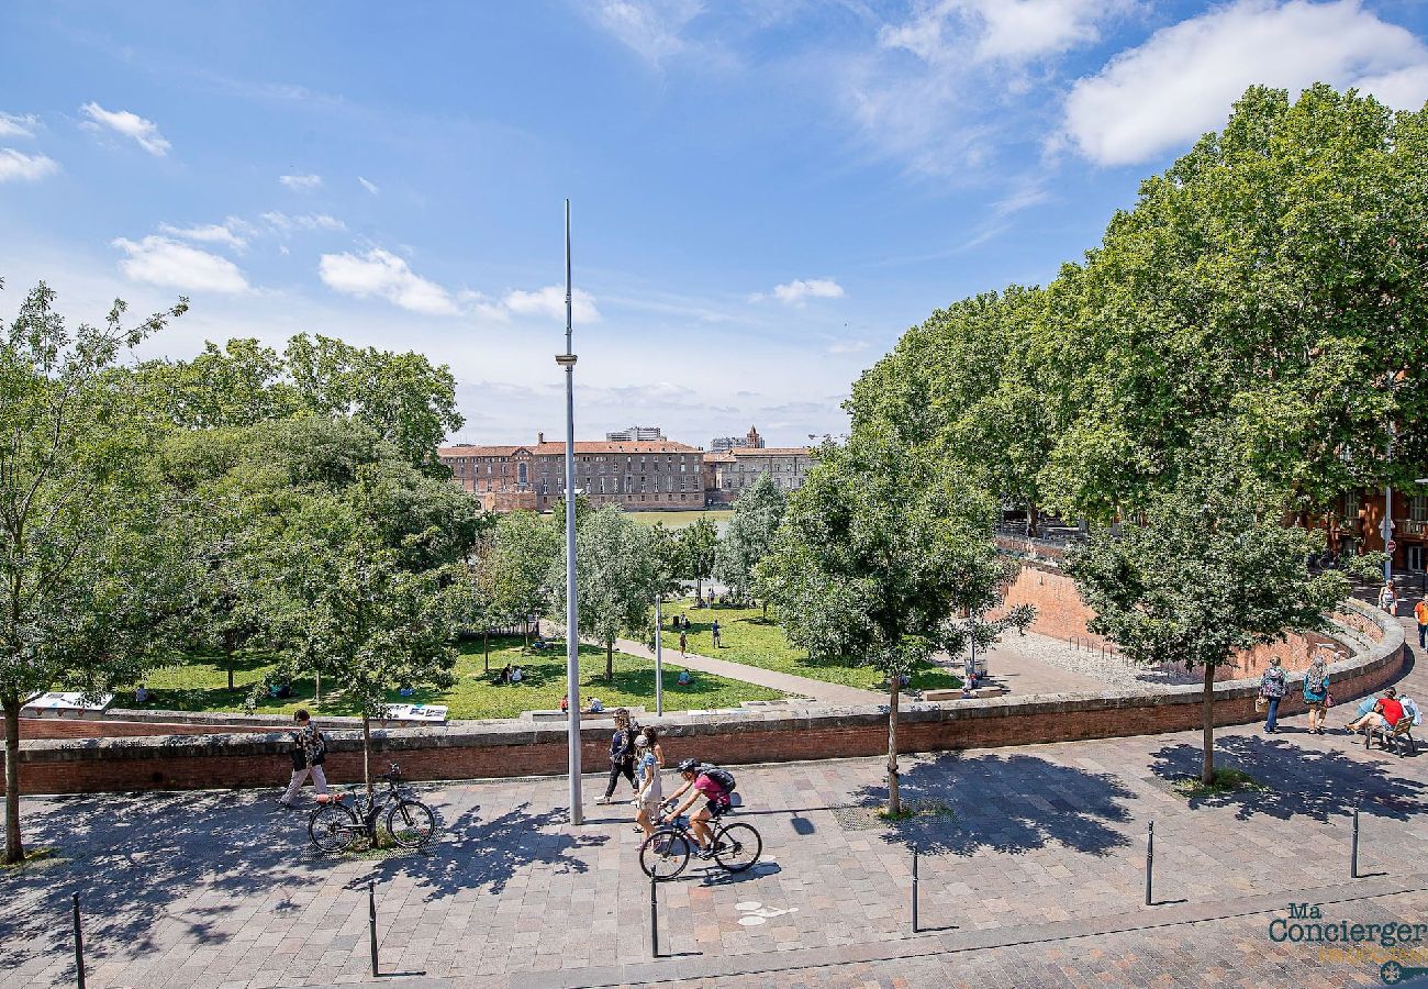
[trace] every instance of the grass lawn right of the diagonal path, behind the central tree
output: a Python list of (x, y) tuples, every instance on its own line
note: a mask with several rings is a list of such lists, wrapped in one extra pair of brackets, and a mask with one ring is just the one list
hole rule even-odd
[[(760, 607), (690, 607), (690, 602), (671, 603), (664, 606), (664, 649), (665, 656), (678, 660), (680, 633), (670, 630), (670, 619), (674, 615), (687, 615), (690, 619), (690, 652), (701, 656), (717, 656), (734, 663), (747, 663), (765, 670), (780, 673), (794, 673), (807, 676), (811, 680), (827, 683), (841, 683), (864, 690), (885, 690), (883, 673), (875, 666), (853, 666), (838, 662), (814, 662), (801, 649), (788, 645), (783, 629), (773, 619), (764, 619)], [(723, 647), (714, 649), (714, 636), (710, 625), (718, 619), (720, 642)], [(947, 690), (962, 686), (958, 676), (952, 676), (938, 666), (924, 666), (912, 672), (911, 689), (914, 690)]]

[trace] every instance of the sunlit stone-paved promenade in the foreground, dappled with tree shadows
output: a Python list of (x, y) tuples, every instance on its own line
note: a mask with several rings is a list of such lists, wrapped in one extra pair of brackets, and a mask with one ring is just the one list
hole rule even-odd
[[(1428, 676), (1407, 680), (1428, 695)], [(383, 985), (413, 989), (1377, 985), (1371, 959), (1325, 960), (1268, 925), (1291, 900), (1332, 922), (1428, 920), (1428, 755), (1309, 736), (1302, 719), (1225, 729), (1221, 765), (1269, 789), (1187, 802), (1171, 779), (1198, 753), (1198, 733), (1167, 733), (907, 757), (907, 796), (951, 813), (898, 830), (870, 812), (875, 759), (735, 767), (764, 859), (661, 885), (660, 959), (628, 807), (590, 806), (571, 828), (557, 779), (418, 787), (443, 840), (381, 860), (316, 855), (276, 790), (33, 797), (29, 840), (61, 858), (0, 879), (0, 972), (7, 988), (74, 985), (79, 892), (93, 988), (366, 982), (371, 880)], [(667, 752), (684, 755), (717, 759)]]

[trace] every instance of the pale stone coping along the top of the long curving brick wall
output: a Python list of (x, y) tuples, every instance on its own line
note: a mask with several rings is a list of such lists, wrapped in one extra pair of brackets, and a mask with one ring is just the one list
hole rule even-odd
[[(1397, 672), (1402, 659), (1404, 630), (1397, 620), (1378, 609), (1351, 602), (1361, 615), (1368, 616), (1384, 630), (1384, 636), (1367, 652), (1329, 665), (1331, 682), (1359, 679), (1382, 673), (1382, 679)], [(1289, 673), (1292, 693), (1304, 682), (1302, 673)], [(1217, 683), (1217, 702), (1245, 700), (1258, 693), (1258, 680), (1225, 680)], [(1198, 705), (1200, 685), (1158, 686), (1135, 690), (1105, 690), (1094, 693), (1054, 693), (1030, 697), (988, 697), (957, 702), (910, 702), (898, 709), (900, 725), (921, 725), (940, 722), (965, 722), (981, 719), (1037, 719), (1078, 712), (1117, 709), (1155, 709), (1178, 705)], [(687, 739), (697, 736), (721, 736), (767, 732), (814, 732), (828, 729), (867, 729), (887, 725), (887, 705), (825, 705), (817, 707), (771, 707), (744, 709), (737, 712), (684, 712), (664, 717), (645, 719), (645, 723), (661, 729), (664, 737)], [(360, 752), (361, 732), (336, 725), (337, 719), (323, 719), (331, 740), (333, 752)], [(608, 725), (583, 725), (581, 736), (587, 743), (601, 742), (608, 735)], [(398, 727), (373, 730), (376, 749), (384, 753), (404, 750), (454, 749), (454, 747), (503, 747), (530, 745), (565, 745), (565, 725), (544, 725), (517, 719), (491, 722), (466, 722), (444, 727)], [(263, 756), (288, 755), (291, 739), (281, 732), (246, 732), (237, 735), (167, 735), (131, 737), (90, 737), (27, 740), (21, 743), (21, 762), (63, 763), (91, 759), (154, 759), (186, 756)]]

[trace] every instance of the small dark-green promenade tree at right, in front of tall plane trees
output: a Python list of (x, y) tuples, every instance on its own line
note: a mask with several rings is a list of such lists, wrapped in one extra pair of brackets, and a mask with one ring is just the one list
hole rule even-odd
[(1095, 527), (1065, 570), (1095, 612), (1091, 632), (1135, 662), (1204, 672), (1201, 780), (1210, 785), (1215, 670), (1285, 632), (1324, 629), (1348, 580), (1308, 573), (1318, 540), (1267, 513), (1271, 492), (1222, 432), (1201, 432), (1172, 490), (1151, 496), (1134, 520)]

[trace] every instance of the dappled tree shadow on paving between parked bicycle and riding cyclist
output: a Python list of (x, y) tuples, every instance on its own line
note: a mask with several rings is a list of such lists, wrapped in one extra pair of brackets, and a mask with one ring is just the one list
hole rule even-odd
[[(378, 885), (391, 879), (411, 879), (426, 888), (427, 902), (464, 889), (501, 893), (518, 870), (537, 866), (567, 873), (587, 872), (590, 866), (574, 856), (580, 849), (598, 848), (608, 835), (570, 835), (547, 830), (570, 822), (565, 807), (530, 813), (523, 803), (491, 820), (477, 819), (477, 807), (461, 813), (443, 828), (441, 838), (420, 855), (374, 862), (368, 875), (353, 880), (351, 888)], [(380, 892), (380, 886), (378, 886)]]

